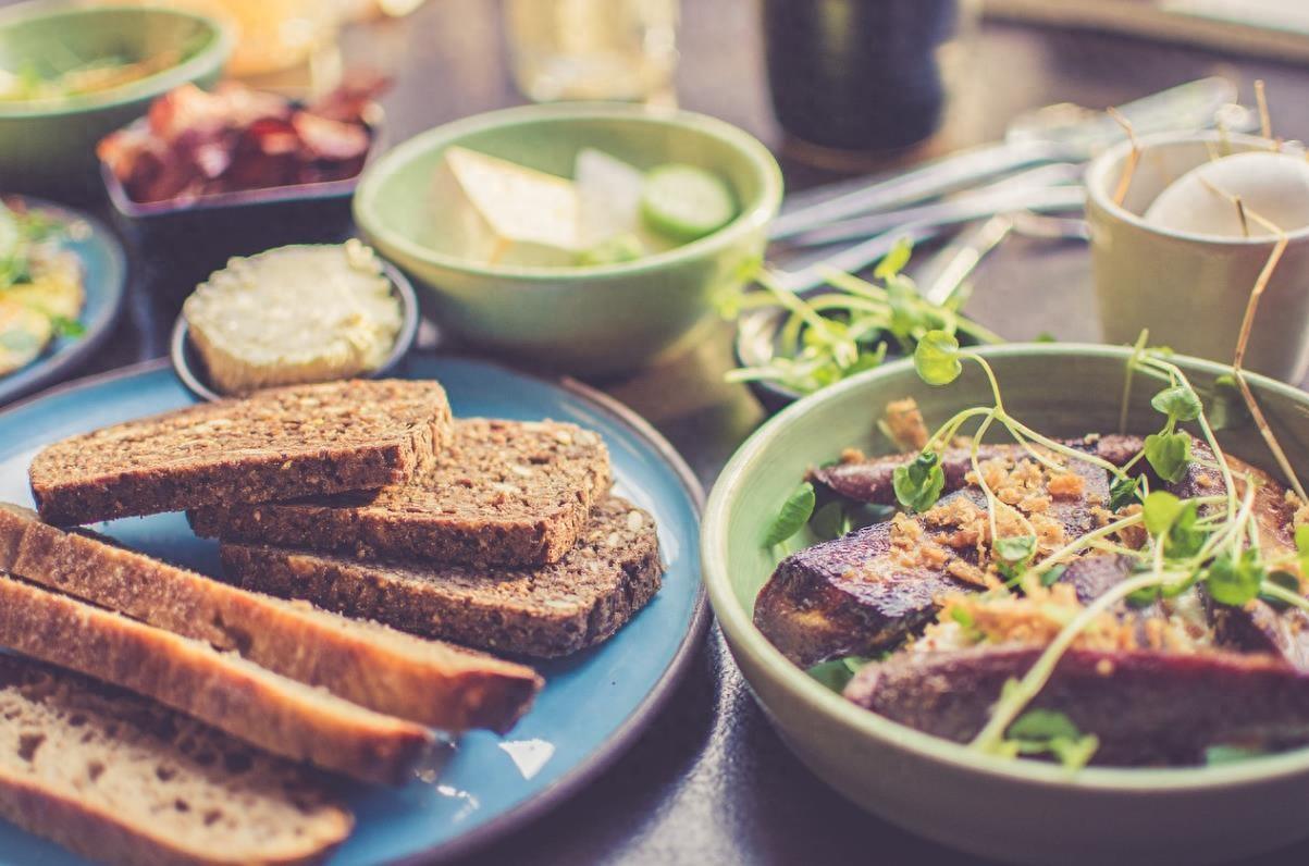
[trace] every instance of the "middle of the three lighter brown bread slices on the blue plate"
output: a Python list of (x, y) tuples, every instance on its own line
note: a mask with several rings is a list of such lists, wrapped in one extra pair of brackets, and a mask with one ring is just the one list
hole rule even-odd
[(153, 697), (276, 755), (401, 784), (433, 738), (234, 653), (0, 576), (0, 646)]

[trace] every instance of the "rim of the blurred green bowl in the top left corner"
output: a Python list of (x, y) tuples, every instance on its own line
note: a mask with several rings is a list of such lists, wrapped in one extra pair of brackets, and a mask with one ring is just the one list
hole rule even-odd
[(50, 105), (30, 105), (26, 102), (0, 102), (0, 120), (31, 119), (31, 118), (59, 118), (73, 114), (85, 114), (103, 109), (115, 109), (143, 99), (153, 99), (168, 93), (173, 88), (187, 81), (203, 77), (204, 75), (220, 71), (232, 56), (236, 46), (236, 37), (232, 29), (216, 18), (157, 5), (99, 5), (89, 4), (84, 0), (69, 0), (65, 3), (50, 3), (48, 0), (31, 0), (14, 7), (0, 9), (0, 31), (26, 21), (60, 17), (88, 17), (105, 13), (128, 12), (140, 16), (162, 16), (171, 18), (185, 18), (195, 21), (208, 29), (211, 37), (208, 44), (187, 58), (182, 63), (160, 69), (144, 78), (130, 81), (118, 88), (110, 88), (101, 93), (89, 93), (81, 97), (54, 101)]

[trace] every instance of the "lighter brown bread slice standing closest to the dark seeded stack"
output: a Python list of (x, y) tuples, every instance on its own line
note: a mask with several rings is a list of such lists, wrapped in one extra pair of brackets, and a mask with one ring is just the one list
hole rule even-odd
[(361, 706), (463, 731), (504, 733), (542, 680), (529, 667), (377, 623), (241, 590), (0, 502), (0, 569), (238, 653)]

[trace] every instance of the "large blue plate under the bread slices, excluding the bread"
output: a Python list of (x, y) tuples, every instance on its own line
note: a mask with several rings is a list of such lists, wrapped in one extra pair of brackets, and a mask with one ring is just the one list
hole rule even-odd
[[(609, 445), (615, 489), (658, 522), (664, 587), (614, 638), (538, 665), (535, 706), (504, 738), (466, 735), (432, 781), (395, 790), (360, 788), (355, 835), (332, 863), (452, 857), (535, 818), (601, 772), (632, 743), (690, 661), (707, 623), (700, 590), (700, 492), (672, 447), (644, 421), (571, 382), (552, 385), (478, 361), (414, 358), (411, 378), (440, 379), (456, 415), (573, 421)], [(30, 502), (27, 463), (43, 445), (92, 428), (192, 402), (166, 362), (73, 383), (0, 415), (0, 500)], [(181, 514), (103, 525), (131, 547), (215, 572), (216, 546)], [(0, 865), (81, 863), (0, 822)]]

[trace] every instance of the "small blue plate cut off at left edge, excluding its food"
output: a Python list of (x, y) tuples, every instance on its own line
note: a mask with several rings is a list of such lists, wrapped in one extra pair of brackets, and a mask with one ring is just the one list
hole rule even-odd
[(77, 224), (76, 237), (63, 245), (81, 259), (86, 307), (79, 319), (85, 328), (80, 336), (55, 338), (35, 361), (9, 375), (0, 375), (0, 406), (52, 385), (103, 345), (123, 309), (127, 283), (123, 247), (103, 222), (42, 199), (5, 198), (18, 199), (34, 211), (46, 211), (62, 222)]

